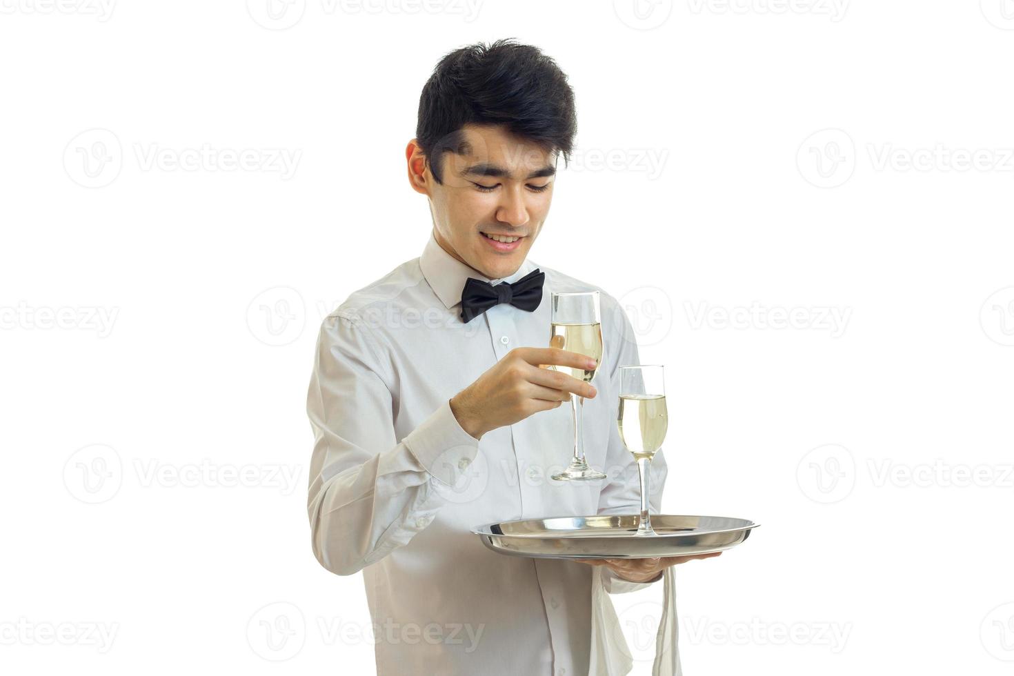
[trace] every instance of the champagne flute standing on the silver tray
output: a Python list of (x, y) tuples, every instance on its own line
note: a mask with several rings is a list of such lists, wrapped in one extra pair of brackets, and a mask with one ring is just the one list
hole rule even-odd
[(665, 382), (662, 367), (620, 367), (620, 438), (634, 454), (641, 474), (641, 518), (638, 535), (654, 535), (648, 515), (648, 469), (665, 439), (669, 427), (665, 410)]

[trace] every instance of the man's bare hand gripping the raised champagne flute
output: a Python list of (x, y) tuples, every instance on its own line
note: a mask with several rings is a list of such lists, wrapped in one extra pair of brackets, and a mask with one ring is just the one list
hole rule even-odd
[(570, 399), (571, 393), (594, 398), (596, 390), (590, 384), (541, 365), (593, 369), (596, 363), (557, 348), (515, 348), (451, 397), (450, 409), (461, 429), (479, 439), (539, 410), (556, 408)]

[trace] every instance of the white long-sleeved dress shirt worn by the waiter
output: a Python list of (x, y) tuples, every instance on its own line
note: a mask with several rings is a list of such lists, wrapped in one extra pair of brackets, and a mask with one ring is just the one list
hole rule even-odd
[[(546, 282), (533, 312), (501, 304), (461, 321), (468, 277), (513, 282), (535, 268)], [(608, 478), (555, 481), (550, 475), (573, 453), (568, 402), (476, 440), (448, 400), (514, 348), (549, 346), (552, 292), (589, 290), (601, 293), (604, 352), (593, 380), (598, 394), (584, 403), (584, 447)], [(354, 292), (323, 320), (307, 397), (312, 546), (329, 571), (363, 571), (379, 676), (588, 673), (593, 630), (601, 641), (615, 629), (614, 614), (613, 626), (593, 626), (611, 612), (593, 605), (593, 591), (599, 603), (598, 596), (608, 601), (602, 590), (643, 585), (603, 567), (498, 554), (470, 530), (637, 513), (637, 465), (617, 429), (617, 367), (638, 363), (626, 313), (601, 289), (531, 260), (489, 280), (432, 234), (420, 257)], [(654, 512), (665, 475), (659, 455)]]

